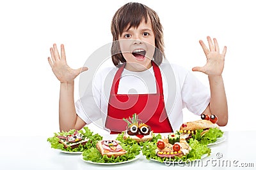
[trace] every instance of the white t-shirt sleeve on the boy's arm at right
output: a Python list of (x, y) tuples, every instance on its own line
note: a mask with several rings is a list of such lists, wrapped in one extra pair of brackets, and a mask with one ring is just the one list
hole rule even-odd
[(188, 71), (184, 80), (182, 90), (183, 107), (195, 115), (201, 115), (210, 103), (209, 89)]

